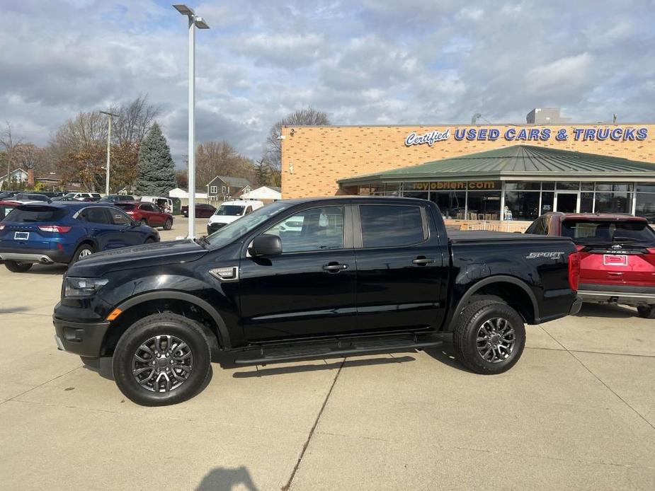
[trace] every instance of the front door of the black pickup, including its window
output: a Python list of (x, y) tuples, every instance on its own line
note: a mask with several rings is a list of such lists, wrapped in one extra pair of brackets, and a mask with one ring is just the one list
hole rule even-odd
[(241, 258), (239, 296), (247, 340), (355, 330), (351, 224), (346, 205), (309, 207), (263, 232), (280, 237), (283, 253)]

